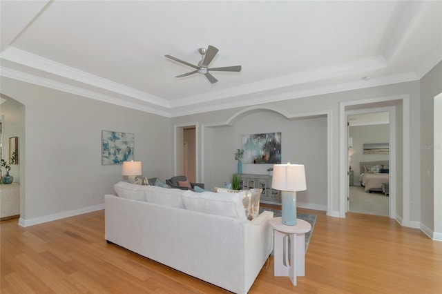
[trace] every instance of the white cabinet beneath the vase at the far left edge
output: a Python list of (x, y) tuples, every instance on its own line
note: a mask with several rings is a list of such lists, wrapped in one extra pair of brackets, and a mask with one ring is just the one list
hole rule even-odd
[(2, 184), (0, 186), (0, 220), (20, 215), (20, 184)]

